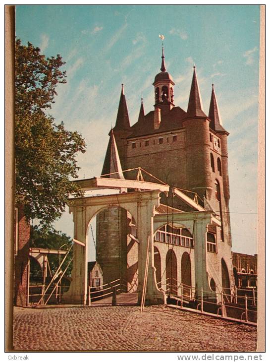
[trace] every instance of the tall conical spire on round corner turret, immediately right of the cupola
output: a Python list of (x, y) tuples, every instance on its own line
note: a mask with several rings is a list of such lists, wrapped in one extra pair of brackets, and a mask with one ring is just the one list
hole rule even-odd
[(198, 85), (196, 66), (193, 66), (193, 78), (191, 83), (187, 117), (207, 117), (203, 111), (203, 103)]

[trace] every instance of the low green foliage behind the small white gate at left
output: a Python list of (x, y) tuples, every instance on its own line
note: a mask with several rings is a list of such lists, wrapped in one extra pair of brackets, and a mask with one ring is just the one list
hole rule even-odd
[[(44, 229), (39, 229), (38, 226), (34, 226), (31, 229), (31, 239), (30, 239), (30, 246), (31, 247), (41, 247), (46, 249), (60, 249), (61, 250), (68, 250), (72, 245), (72, 240), (66, 234), (51, 229), (49, 231), (45, 231)], [(60, 265), (60, 262), (63, 260), (64, 255), (57, 255), (57, 254), (48, 254), (49, 264), (54, 274)], [(67, 266), (68, 262), (72, 258), (72, 249), (70, 250), (69, 254), (67, 255), (63, 265), (61, 266), (61, 270), (64, 271), (65, 267)], [(32, 267), (32, 275), (33, 276), (41, 276), (40, 268), (36, 268), (37, 264), (34, 264)], [(70, 276), (72, 270), (72, 263), (69, 265), (65, 275)]]

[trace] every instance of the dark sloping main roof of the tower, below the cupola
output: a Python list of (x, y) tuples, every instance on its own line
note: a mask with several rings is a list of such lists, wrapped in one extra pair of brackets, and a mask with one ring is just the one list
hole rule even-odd
[(180, 107), (173, 107), (170, 111), (161, 111), (161, 124), (158, 129), (154, 129), (154, 111), (149, 112), (139, 122), (131, 126), (132, 132), (128, 138), (173, 131), (182, 128), (182, 120), (186, 117), (186, 112)]

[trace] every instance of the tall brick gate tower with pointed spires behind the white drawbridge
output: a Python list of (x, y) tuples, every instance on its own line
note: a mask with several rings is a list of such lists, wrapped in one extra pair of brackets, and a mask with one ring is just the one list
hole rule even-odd
[[(132, 126), (129, 122), (122, 85), (116, 123), (113, 128), (114, 153), (117, 153), (117, 157), (119, 155), (119, 163), (114, 162), (118, 165), (114, 172), (117, 172), (119, 167), (122, 170), (141, 167), (171, 187), (188, 190), (189, 196), (198, 195), (199, 204), (215, 212), (222, 226), (215, 230), (209, 228), (209, 232), (213, 233), (212, 236), (214, 235), (215, 239), (212, 243), (216, 243), (216, 246), (209, 249), (208, 254), (217, 253), (218, 250), (218, 256), (209, 255), (209, 263), (211, 262), (212, 268), (215, 269), (213, 272), (216, 273), (215, 278), (212, 276), (216, 283), (229, 289), (232, 283), (227, 153), (229, 133), (222, 126), (213, 84), (208, 116), (203, 111), (195, 66), (186, 112), (174, 105), (174, 84), (171, 75), (166, 71), (162, 47), (161, 72), (156, 75), (153, 82), (154, 110), (145, 114), (142, 100), (138, 121)], [(112, 142), (111, 137), (110, 135), (109, 144)], [(111, 169), (108, 168), (111, 158), (111, 153), (107, 151), (103, 174), (111, 173)], [(163, 196), (161, 201), (174, 208), (190, 211), (181, 203), (181, 200), (173, 199), (171, 194), (167, 199)], [(123, 218), (126, 220), (124, 214), (126, 213), (122, 213), (120, 219), (117, 219), (122, 229), (128, 226), (123, 220)], [(130, 219), (128, 220), (131, 224)], [(97, 218), (97, 244), (105, 245), (109, 242), (105, 249), (100, 248), (97, 252), (97, 260), (104, 266), (106, 261), (103, 255), (109, 249), (115, 251), (115, 258), (116, 255), (128, 255), (126, 246), (128, 232), (121, 234), (120, 237), (117, 235), (117, 238), (113, 238), (110, 234), (108, 225), (116, 225), (115, 223), (116, 220), (112, 215), (106, 220), (101, 216)], [(136, 252), (132, 256), (134, 260), (135, 256)], [(124, 274), (127, 276), (129, 268), (127, 258), (121, 257), (124, 263), (122, 264), (120, 256), (117, 257), (119, 259), (116, 263), (117, 268), (121, 269), (122, 274), (125, 270)], [(120, 277), (120, 272), (117, 273)]]

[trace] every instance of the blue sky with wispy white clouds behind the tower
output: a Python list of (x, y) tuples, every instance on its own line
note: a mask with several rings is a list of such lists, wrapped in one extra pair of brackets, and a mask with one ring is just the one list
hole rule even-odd
[[(204, 110), (215, 84), (223, 126), (230, 135), (229, 178), (233, 250), (256, 253), (259, 5), (18, 5), (16, 36), (46, 56), (66, 61), (50, 111), (78, 130), (87, 152), (78, 156), (80, 178), (101, 174), (121, 83), (131, 124), (153, 110), (161, 40), (175, 84), (175, 104), (187, 110), (196, 64)], [(56, 228), (72, 236), (65, 213)]]

